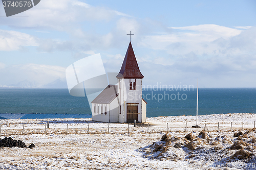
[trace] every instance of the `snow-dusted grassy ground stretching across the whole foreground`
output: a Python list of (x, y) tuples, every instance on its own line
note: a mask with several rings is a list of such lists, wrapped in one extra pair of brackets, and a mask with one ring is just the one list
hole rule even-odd
[[(202, 115), (198, 116), (202, 128), (195, 129), (191, 126), (196, 125), (196, 116), (151, 117), (147, 118), (149, 126), (145, 123), (135, 128), (130, 124), (128, 133), (128, 124), (110, 124), (108, 133), (109, 124), (92, 122), (91, 118), (5, 119), (0, 120), (1, 139), (12, 137), (27, 146), (34, 143), (35, 148), (0, 148), (0, 168), (256, 169), (256, 143), (252, 140), (256, 133), (247, 132), (254, 128), (254, 120), (256, 114), (252, 113)], [(45, 129), (47, 121), (49, 129)], [(208, 137), (203, 139), (198, 135), (205, 124)], [(160, 141), (167, 130), (168, 138)], [(244, 151), (250, 153), (245, 159), (232, 157), (240, 150), (227, 149), (239, 141), (233, 134), (240, 130), (248, 137), (240, 137)], [(184, 137), (190, 132), (196, 137), (191, 142), (195, 150), (185, 147), (190, 141)], [(175, 148), (176, 143), (181, 148)]]

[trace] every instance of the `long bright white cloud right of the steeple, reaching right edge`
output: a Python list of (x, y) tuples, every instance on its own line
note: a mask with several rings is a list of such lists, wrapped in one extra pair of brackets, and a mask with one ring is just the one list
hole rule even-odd
[(252, 38), (256, 36), (253, 27), (243, 31), (217, 25), (173, 27), (173, 29), (188, 31), (174, 31), (171, 34), (146, 36), (139, 45), (154, 50), (163, 50), (176, 56), (191, 52), (196, 55), (210, 56), (238, 55), (248, 53), (248, 47), (250, 52), (254, 51), (252, 46), (256, 45), (254, 38)]

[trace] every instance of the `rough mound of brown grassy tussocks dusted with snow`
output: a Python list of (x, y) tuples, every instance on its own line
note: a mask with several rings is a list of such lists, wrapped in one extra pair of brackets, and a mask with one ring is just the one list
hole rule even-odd
[(255, 169), (256, 129), (225, 135), (220, 132), (190, 132), (181, 137), (164, 134), (160, 141), (153, 142), (139, 151), (148, 159), (180, 160), (200, 168)]

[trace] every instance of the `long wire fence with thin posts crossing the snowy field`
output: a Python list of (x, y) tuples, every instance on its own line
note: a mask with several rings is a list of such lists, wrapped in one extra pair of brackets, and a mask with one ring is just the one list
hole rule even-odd
[(255, 128), (254, 122), (216, 122), (201, 123), (200, 128), (191, 128), (193, 122), (184, 122), (184, 124), (166, 123), (17, 123), (0, 125), (0, 136), (10, 135), (29, 135), (29, 134), (132, 134), (132, 133), (161, 133), (161, 132), (199, 132), (199, 131), (239, 131)]

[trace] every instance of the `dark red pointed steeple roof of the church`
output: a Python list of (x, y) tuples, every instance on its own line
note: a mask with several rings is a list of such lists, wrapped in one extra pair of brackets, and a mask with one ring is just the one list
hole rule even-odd
[(142, 79), (143, 77), (144, 76), (140, 72), (135, 54), (133, 52), (132, 43), (130, 42), (123, 60), (122, 67), (116, 78)]

